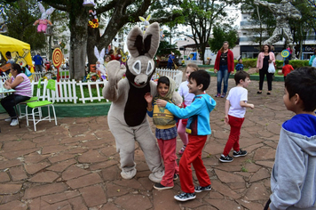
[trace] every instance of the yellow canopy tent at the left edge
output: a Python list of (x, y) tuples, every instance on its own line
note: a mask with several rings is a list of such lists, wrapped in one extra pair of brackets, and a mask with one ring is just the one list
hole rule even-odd
[(11, 52), (12, 59), (21, 67), (25, 67), (27, 64), (31, 67), (30, 71), (34, 72), (32, 57), (31, 57), (31, 47), (28, 43), (24, 43), (18, 39), (12, 38), (10, 36), (0, 35), (0, 52), (5, 58), (5, 52)]

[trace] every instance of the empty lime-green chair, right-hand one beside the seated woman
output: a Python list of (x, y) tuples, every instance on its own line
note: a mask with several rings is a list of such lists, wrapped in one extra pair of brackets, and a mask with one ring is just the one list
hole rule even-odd
[[(55, 125), (57, 125), (57, 118), (56, 118), (56, 113), (55, 113), (55, 108), (53, 106), (53, 102), (55, 101), (55, 95), (56, 95), (56, 87), (55, 87), (56, 81), (55, 80), (48, 80), (47, 85), (45, 83), (44, 87), (43, 87), (43, 101), (35, 101), (35, 102), (28, 102), (27, 106), (25, 108), (26, 111), (26, 117), (27, 117), (27, 125), (28, 125), (28, 107), (32, 109), (32, 115), (33, 119), (30, 119), (33, 121), (34, 124), (34, 131), (36, 131), (36, 124), (38, 124), (41, 121), (44, 120), (49, 120), (51, 122), (51, 111), (50, 108), (52, 109), (53, 115), (54, 115), (54, 120), (55, 120)], [(47, 93), (47, 100), (45, 100), (46, 98), (46, 93)], [(48, 116), (47, 117), (43, 117), (42, 116), (42, 108), (43, 107), (47, 107), (47, 112), (48, 112)], [(36, 112), (35, 110), (38, 110), (38, 112), (40, 112), (41, 114), (38, 116), (38, 118), (36, 118)]]

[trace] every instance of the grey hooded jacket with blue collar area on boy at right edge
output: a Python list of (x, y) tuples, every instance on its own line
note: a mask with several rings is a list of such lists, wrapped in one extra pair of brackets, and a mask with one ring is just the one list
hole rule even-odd
[(316, 117), (298, 114), (284, 122), (271, 175), (270, 208), (316, 209)]

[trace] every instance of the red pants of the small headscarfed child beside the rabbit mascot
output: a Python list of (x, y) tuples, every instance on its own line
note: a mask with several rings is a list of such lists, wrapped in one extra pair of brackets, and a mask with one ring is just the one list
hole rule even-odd
[(173, 186), (173, 175), (178, 174), (178, 164), (176, 155), (177, 138), (170, 140), (158, 139), (158, 145), (164, 163), (164, 175), (161, 184), (163, 186)]

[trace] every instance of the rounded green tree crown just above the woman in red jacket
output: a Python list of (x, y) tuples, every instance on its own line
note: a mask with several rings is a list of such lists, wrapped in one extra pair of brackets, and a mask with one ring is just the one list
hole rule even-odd
[(213, 38), (209, 38), (209, 49), (217, 52), (225, 41), (229, 43), (229, 48), (233, 49), (238, 40), (238, 32), (236, 28), (228, 24), (217, 24), (213, 28)]

